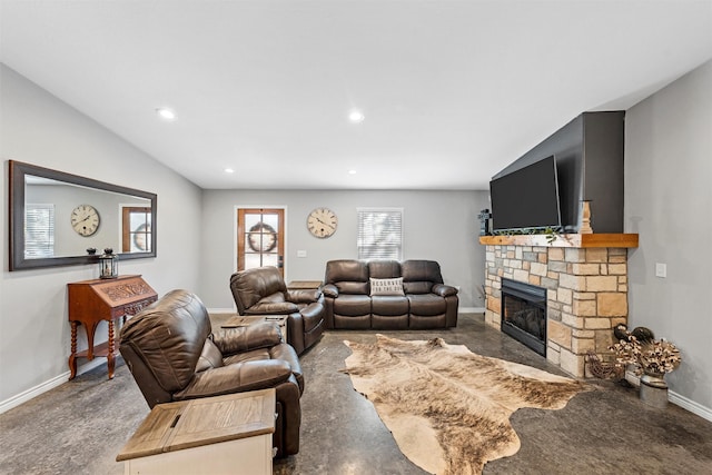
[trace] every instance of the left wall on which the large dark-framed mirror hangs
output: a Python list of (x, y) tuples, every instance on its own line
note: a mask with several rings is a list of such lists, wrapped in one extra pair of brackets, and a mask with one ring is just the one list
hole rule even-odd
[[(70, 345), (67, 283), (98, 277), (96, 266), (8, 271), (7, 160), (156, 192), (158, 256), (121, 261), (119, 271), (144, 275), (159, 295), (176, 287), (198, 286), (200, 231), (190, 224), (200, 221), (201, 191), (4, 65), (0, 65), (0, 103), (1, 410), (41, 387), (66, 380)], [(80, 349), (83, 349), (83, 330), (79, 333), (82, 335)], [(97, 330), (97, 339), (106, 338), (103, 325)]]

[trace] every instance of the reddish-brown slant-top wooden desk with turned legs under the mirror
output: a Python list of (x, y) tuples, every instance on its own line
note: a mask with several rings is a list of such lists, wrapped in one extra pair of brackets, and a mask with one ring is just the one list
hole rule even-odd
[[(77, 376), (77, 358), (107, 358), (109, 379), (113, 378), (118, 347), (115, 344), (113, 320), (138, 314), (158, 298), (141, 276), (119, 276), (116, 279), (93, 279), (67, 284), (69, 293), (69, 323), (71, 324), (71, 354), (69, 355), (69, 379)], [(93, 337), (99, 321), (109, 324), (109, 339), (95, 346)], [(87, 331), (88, 348), (77, 353), (77, 326)]]

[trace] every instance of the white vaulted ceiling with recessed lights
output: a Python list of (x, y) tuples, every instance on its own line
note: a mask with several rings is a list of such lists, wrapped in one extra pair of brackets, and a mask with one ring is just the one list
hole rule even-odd
[(712, 58), (712, 0), (0, 6), (2, 62), (204, 189), (487, 189)]

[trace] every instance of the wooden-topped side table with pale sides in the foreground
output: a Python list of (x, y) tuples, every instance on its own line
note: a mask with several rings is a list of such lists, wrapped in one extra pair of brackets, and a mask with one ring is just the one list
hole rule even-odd
[(117, 455), (126, 475), (271, 474), (275, 389), (158, 404)]

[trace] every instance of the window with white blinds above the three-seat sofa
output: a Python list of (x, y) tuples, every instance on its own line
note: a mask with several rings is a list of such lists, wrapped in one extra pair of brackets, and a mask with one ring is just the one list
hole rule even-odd
[(403, 209), (358, 208), (358, 258), (403, 258)]

